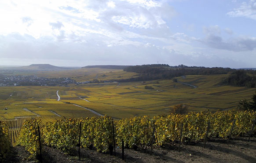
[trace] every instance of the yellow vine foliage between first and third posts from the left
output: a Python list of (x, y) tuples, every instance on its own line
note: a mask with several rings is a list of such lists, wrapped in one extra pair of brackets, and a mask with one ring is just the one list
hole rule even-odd
[(67, 153), (74, 152), (79, 144), (80, 122), (81, 145), (93, 145), (97, 151), (108, 151), (113, 144), (112, 119), (109, 116), (49, 122), (43, 128), (44, 144)]

